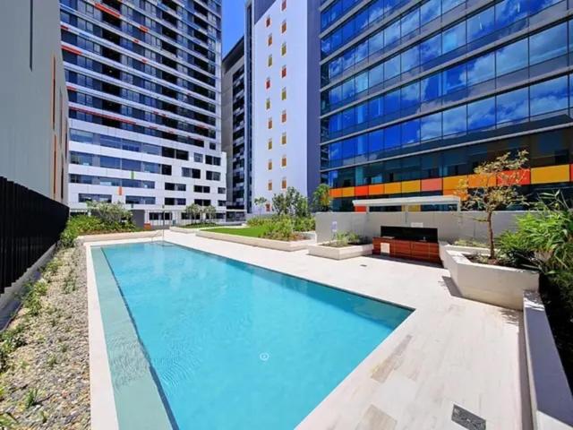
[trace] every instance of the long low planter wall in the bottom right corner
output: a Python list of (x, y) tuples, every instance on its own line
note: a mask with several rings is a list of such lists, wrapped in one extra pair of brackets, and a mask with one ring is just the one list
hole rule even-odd
[(535, 430), (573, 428), (573, 397), (541, 297), (523, 297), (527, 376)]

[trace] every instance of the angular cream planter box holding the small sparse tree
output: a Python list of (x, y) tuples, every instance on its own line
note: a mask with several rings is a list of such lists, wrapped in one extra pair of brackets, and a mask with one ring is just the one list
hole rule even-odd
[(440, 254), (443, 255), (444, 267), (449, 270), (463, 297), (521, 310), (523, 293), (539, 288), (539, 273), (536, 271), (471, 262), (466, 255), (475, 253), (456, 251), (449, 246), (445, 246)]

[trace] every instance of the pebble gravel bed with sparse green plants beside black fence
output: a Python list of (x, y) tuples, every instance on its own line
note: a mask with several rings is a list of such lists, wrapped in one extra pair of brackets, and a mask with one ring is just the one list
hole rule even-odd
[(83, 246), (58, 251), (2, 333), (0, 428), (90, 428), (85, 266)]

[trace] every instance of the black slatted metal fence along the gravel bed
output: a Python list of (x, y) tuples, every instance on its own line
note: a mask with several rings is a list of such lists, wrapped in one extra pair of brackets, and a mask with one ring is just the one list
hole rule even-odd
[(0, 294), (54, 245), (68, 207), (0, 176)]

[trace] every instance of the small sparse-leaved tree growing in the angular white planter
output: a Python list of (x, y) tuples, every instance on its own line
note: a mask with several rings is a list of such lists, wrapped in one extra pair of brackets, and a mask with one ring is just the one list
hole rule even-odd
[(464, 207), (470, 211), (484, 211), (485, 217), (476, 219), (487, 224), (490, 260), (495, 259), (492, 216), (494, 211), (525, 202), (517, 186), (525, 176), (527, 151), (520, 150), (515, 156), (510, 152), (492, 161), (486, 161), (474, 169), (472, 182), (462, 179), (457, 194), (464, 199)]

